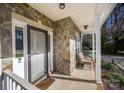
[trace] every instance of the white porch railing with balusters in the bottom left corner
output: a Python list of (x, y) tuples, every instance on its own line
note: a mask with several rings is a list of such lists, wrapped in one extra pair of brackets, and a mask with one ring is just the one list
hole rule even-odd
[(2, 90), (38, 90), (37, 87), (9, 70), (3, 72), (1, 80)]

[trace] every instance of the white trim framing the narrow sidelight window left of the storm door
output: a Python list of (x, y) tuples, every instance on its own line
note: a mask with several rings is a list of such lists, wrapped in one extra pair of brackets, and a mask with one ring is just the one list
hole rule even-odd
[(23, 28), (23, 47), (24, 47), (24, 79), (27, 80), (27, 24), (20, 20), (12, 18), (12, 58), (13, 61), (16, 59), (15, 51), (15, 26)]

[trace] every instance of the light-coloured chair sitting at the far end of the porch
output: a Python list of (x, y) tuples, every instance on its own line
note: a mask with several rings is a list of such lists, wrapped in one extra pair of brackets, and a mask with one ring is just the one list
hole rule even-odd
[(87, 64), (87, 65), (91, 65), (92, 63), (92, 58), (87, 58), (83, 55), (82, 52), (79, 52), (78, 54), (78, 60), (77, 60), (77, 63), (80, 63), (80, 64)]

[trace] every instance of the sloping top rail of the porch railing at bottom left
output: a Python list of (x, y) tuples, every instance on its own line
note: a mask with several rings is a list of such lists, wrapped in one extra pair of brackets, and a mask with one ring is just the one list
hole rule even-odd
[(20, 84), (22, 87), (24, 87), (27, 90), (39, 90), (37, 87), (23, 80), (22, 78), (20, 78), (19, 76), (17, 76), (16, 74), (14, 74), (13, 72), (9, 70), (3, 71), (3, 74), (6, 74), (7, 76), (12, 78), (15, 82), (17, 82), (18, 84)]

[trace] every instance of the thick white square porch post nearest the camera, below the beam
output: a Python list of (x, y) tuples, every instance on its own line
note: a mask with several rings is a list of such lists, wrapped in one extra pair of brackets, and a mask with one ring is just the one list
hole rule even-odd
[(96, 17), (96, 82), (101, 83), (101, 20)]

